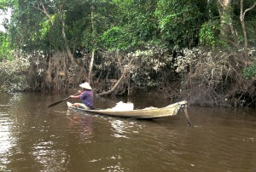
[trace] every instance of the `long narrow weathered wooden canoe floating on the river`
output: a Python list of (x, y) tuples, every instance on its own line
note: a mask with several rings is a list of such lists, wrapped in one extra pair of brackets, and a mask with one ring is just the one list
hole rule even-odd
[(77, 110), (80, 112), (90, 112), (114, 117), (125, 117), (125, 118), (163, 118), (177, 115), (178, 110), (181, 106), (185, 106), (187, 101), (179, 101), (169, 106), (165, 106), (162, 108), (156, 107), (148, 107), (145, 109), (138, 109), (138, 110), (129, 110), (129, 111), (115, 111), (114, 109), (102, 109), (102, 110), (89, 110), (89, 109), (82, 109), (76, 106), (73, 106), (72, 103), (67, 102), (67, 106), (69, 109)]

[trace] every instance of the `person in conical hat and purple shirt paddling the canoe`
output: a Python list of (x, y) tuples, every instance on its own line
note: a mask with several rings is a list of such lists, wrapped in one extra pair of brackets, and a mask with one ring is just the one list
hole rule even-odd
[(79, 90), (79, 95), (70, 95), (70, 98), (80, 99), (82, 103), (74, 103), (73, 106), (82, 107), (84, 109), (93, 109), (93, 91), (90, 87), (89, 83), (81, 83), (79, 84), (83, 90)]

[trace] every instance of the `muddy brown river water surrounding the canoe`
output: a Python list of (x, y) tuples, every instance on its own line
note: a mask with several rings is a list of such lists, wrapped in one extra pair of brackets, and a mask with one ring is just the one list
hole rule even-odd
[[(182, 111), (137, 120), (72, 112), (64, 102), (47, 108), (67, 96), (0, 94), (0, 171), (256, 171), (255, 109), (190, 106), (189, 128)], [(118, 101), (96, 97), (96, 108)]]

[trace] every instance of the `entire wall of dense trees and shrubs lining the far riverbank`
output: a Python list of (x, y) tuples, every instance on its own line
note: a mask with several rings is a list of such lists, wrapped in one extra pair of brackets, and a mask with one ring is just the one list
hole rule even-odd
[[(256, 105), (254, 0), (0, 0), (0, 88)], [(11, 72), (10, 72), (11, 71)]]

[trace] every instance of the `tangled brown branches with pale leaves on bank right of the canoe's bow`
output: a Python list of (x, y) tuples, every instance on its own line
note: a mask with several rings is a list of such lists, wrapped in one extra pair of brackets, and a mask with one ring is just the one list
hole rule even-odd
[(243, 106), (237, 102), (250, 102), (255, 96), (255, 48), (248, 49), (248, 58), (249, 63), (243, 49), (183, 49), (175, 62), (183, 77), (181, 91), (201, 106)]

